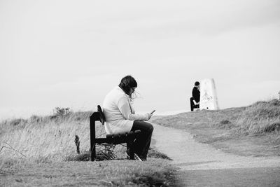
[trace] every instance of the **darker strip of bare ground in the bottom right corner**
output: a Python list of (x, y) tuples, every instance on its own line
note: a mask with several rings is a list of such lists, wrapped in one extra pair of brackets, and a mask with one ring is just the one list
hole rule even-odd
[(174, 186), (279, 186), (278, 167), (183, 171)]

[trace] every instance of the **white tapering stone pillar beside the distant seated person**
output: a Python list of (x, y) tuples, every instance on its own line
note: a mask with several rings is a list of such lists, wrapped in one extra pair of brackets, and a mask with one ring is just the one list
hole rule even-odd
[(218, 110), (218, 97), (213, 78), (200, 81), (200, 109)]

